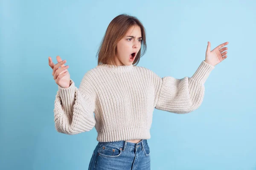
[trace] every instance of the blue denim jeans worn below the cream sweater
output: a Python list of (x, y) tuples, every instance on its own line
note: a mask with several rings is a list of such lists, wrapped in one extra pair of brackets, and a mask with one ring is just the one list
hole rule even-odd
[(99, 142), (88, 170), (150, 170), (148, 142)]

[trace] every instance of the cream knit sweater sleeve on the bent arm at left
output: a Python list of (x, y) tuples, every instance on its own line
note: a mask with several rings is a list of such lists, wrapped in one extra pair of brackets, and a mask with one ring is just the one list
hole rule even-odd
[(95, 126), (95, 92), (90, 77), (85, 74), (79, 88), (70, 79), (70, 87), (58, 86), (54, 103), (55, 128), (59, 133), (74, 135)]

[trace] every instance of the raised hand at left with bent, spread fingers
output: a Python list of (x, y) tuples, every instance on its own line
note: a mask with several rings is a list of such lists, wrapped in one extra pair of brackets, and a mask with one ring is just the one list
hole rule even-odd
[(61, 88), (68, 88), (70, 87), (70, 74), (67, 71), (68, 65), (64, 65), (66, 61), (62, 61), (61, 57), (57, 56), (56, 59), (58, 63), (54, 65), (54, 63), (52, 62), (52, 58), (48, 57), (49, 66), (52, 68), (53, 79), (55, 79), (55, 82)]

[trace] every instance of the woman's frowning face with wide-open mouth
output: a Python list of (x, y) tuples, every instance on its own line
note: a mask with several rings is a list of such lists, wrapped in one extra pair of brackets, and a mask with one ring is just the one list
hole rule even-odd
[[(132, 65), (141, 47), (141, 30), (139, 26), (132, 26), (125, 36), (117, 43), (117, 65)], [(132, 53), (135, 53), (132, 57)], [(130, 59), (132, 58), (132, 59)]]

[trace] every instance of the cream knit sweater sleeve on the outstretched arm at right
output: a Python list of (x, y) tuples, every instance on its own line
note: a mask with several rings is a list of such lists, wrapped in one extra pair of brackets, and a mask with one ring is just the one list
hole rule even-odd
[(201, 105), (204, 98), (204, 83), (215, 67), (201, 62), (192, 77), (175, 79), (173, 77), (156, 77), (154, 84), (154, 108), (171, 113), (189, 113)]

